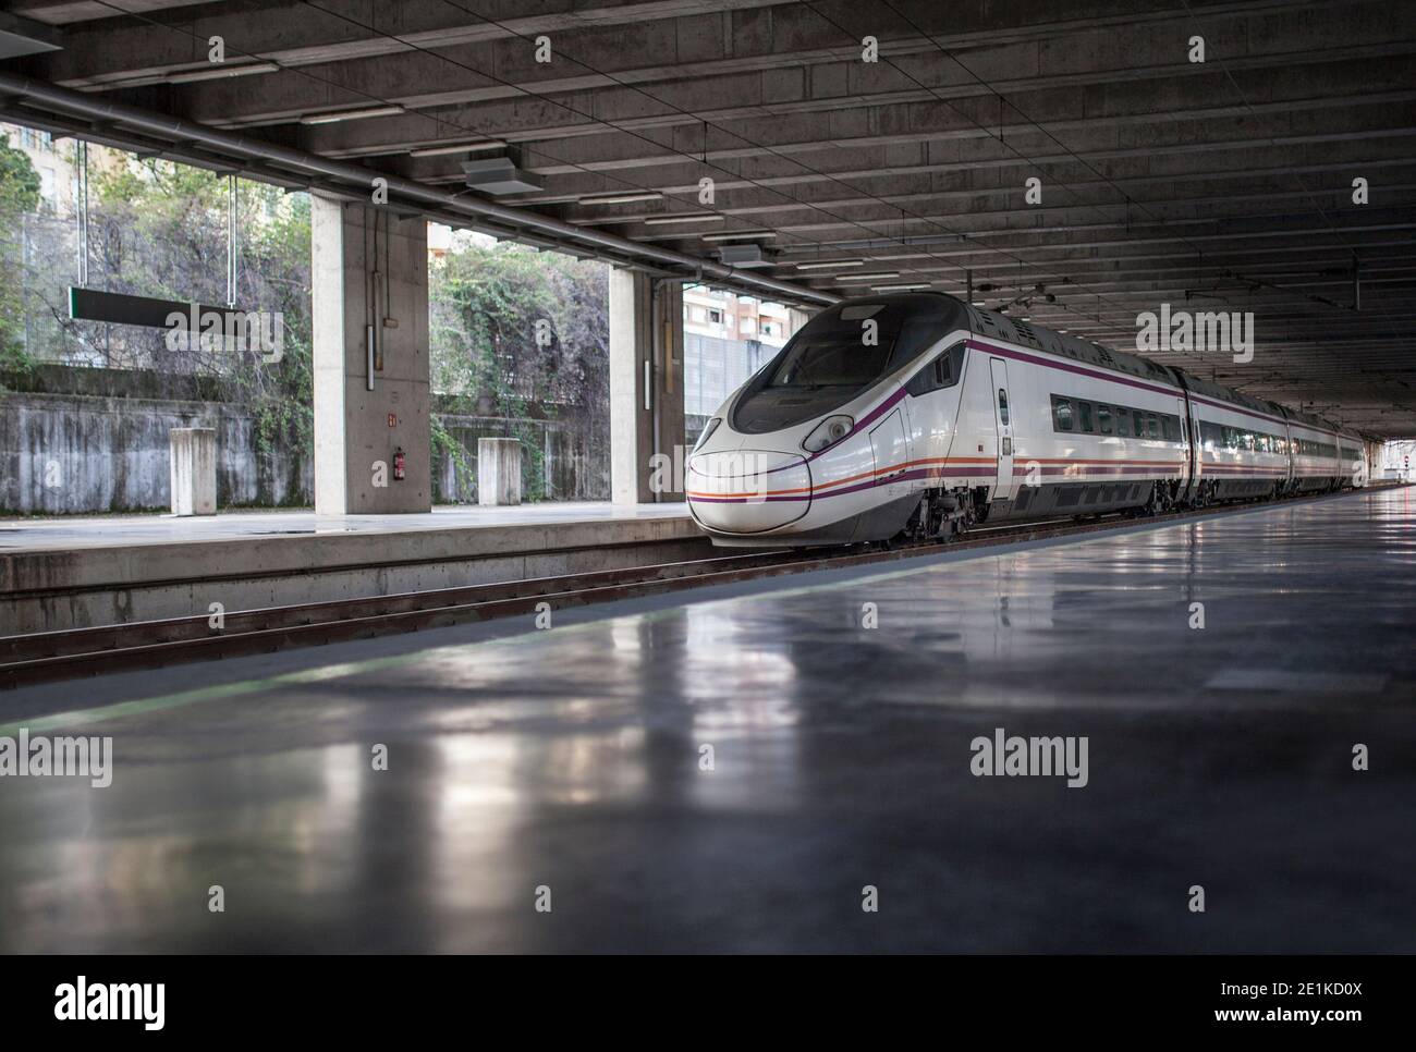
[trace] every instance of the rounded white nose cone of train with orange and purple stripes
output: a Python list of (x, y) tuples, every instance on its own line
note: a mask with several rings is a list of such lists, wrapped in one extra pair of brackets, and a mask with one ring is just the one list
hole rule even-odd
[(806, 457), (760, 449), (688, 459), (688, 503), (709, 530), (756, 534), (801, 518), (811, 507)]

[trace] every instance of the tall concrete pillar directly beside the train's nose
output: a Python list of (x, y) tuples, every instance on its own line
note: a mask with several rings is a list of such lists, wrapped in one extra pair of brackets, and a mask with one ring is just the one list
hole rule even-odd
[(684, 286), (613, 269), (609, 311), (610, 497), (681, 501)]

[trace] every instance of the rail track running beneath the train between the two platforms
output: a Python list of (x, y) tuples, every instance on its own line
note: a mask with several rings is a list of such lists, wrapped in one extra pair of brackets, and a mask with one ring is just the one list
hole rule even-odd
[[(1281, 507), (1315, 500), (1323, 500), (1323, 496), (1289, 497), (1262, 504)], [(236, 610), (224, 614), (219, 629), (211, 626), (208, 614), (194, 614), (6, 636), (0, 637), (0, 688), (534, 614), (539, 603), (549, 603), (551, 609), (565, 609), (816, 569), (895, 562), (943, 551), (969, 551), (1020, 541), (1072, 537), (1114, 530), (1120, 525), (1185, 521), (1249, 510), (1256, 504), (1259, 501), (1144, 518), (1109, 514), (1083, 521), (1046, 520), (976, 527), (947, 544), (923, 541), (816, 548), (806, 552), (722, 555), (530, 581)]]

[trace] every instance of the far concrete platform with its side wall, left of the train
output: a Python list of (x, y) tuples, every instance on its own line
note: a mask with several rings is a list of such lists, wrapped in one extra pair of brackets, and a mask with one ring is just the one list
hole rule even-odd
[(0, 520), (0, 636), (670, 562), (711, 545), (687, 505), (228, 511)]

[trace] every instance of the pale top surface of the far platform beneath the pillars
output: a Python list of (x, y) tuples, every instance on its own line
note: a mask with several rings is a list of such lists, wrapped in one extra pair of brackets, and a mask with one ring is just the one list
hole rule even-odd
[(222, 511), (217, 515), (0, 518), (0, 552), (181, 544), (297, 534), (388, 534), (464, 527), (683, 518), (688, 505), (556, 501), (514, 507), (445, 505), (422, 515), (316, 515), (313, 511)]

